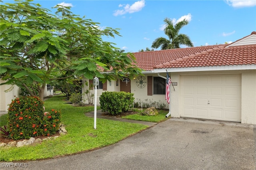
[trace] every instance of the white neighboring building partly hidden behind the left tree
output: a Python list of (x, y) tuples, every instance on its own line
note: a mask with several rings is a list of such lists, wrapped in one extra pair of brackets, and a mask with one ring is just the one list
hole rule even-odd
[[(0, 79), (0, 84), (4, 83)], [(0, 86), (0, 111), (8, 111), (9, 104), (12, 102), (12, 99), (20, 97), (20, 88), (16, 85), (1, 85)], [(53, 86), (47, 84), (44, 89), (44, 97), (53, 95)]]

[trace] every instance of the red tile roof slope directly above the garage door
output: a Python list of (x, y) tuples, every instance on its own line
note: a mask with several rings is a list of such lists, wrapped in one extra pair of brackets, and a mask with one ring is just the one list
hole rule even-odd
[(256, 64), (256, 45), (216, 47), (156, 65), (154, 68), (205, 67)]

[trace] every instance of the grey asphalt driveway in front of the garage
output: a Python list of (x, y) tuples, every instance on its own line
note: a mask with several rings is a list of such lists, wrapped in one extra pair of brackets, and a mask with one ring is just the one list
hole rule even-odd
[(18, 163), (36, 170), (255, 170), (256, 126), (168, 119), (98, 150)]

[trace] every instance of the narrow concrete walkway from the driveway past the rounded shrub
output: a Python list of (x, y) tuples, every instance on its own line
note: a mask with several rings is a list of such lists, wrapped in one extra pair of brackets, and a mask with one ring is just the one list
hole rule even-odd
[[(87, 117), (94, 117), (94, 111), (85, 113)], [(157, 123), (154, 122), (145, 122), (145, 121), (134, 121), (130, 119), (122, 119), (122, 118), (116, 118), (116, 117), (107, 117), (107, 116), (102, 116), (102, 111), (98, 110), (96, 113), (97, 119), (108, 119), (112, 121), (120, 121), (120, 122), (129, 122), (129, 123), (138, 123), (142, 125), (148, 125), (150, 127), (156, 125)]]

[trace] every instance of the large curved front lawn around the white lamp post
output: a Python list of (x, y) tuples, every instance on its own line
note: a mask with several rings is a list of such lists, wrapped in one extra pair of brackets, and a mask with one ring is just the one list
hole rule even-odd
[[(61, 110), (62, 123), (66, 126), (68, 134), (34, 146), (2, 147), (0, 161), (38, 160), (85, 152), (114, 144), (148, 128), (141, 124), (97, 119), (97, 128), (94, 129), (94, 118), (84, 115), (86, 112), (94, 111), (94, 106), (74, 107), (65, 104), (63, 95), (47, 99), (44, 106), (46, 111)], [(0, 117), (0, 123), (7, 124), (7, 115)]]

